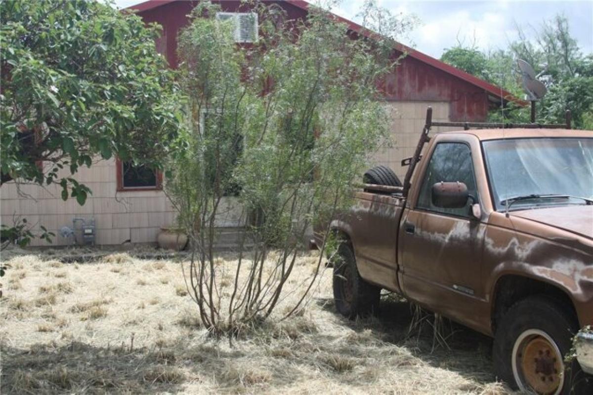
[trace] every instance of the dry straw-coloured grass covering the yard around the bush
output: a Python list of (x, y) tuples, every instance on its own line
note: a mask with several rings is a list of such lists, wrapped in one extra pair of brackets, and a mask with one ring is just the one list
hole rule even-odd
[[(489, 339), (455, 327), (449, 350), (434, 346), (430, 330), (408, 335), (412, 313), (397, 300), (384, 300), (380, 317), (343, 319), (330, 270), (298, 314), (241, 328), (231, 347), (200, 324), (177, 262), (114, 253), (96, 264), (60, 264), (56, 254), (9, 261), (0, 299), (2, 394), (505, 393), (490, 367)], [(299, 258), (295, 287), (316, 259)], [(215, 264), (232, 275), (231, 256)], [(295, 297), (288, 294), (276, 318)]]

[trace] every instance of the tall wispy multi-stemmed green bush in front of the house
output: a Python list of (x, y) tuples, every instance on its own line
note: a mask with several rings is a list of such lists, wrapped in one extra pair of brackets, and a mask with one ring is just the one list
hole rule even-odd
[[(269, 316), (306, 230), (350, 204), (368, 154), (389, 133), (376, 82), (397, 61), (391, 34), (353, 40), (321, 9), (290, 25), (282, 8), (254, 7), (254, 44), (235, 44), (232, 21), (216, 20), (218, 6), (207, 2), (179, 40), (189, 127), (165, 186), (196, 252), (190, 273), (200, 317), (216, 333)], [(219, 298), (208, 296), (218, 284), (216, 220), (229, 200), (243, 208), (242, 239), (255, 250), (244, 283), (240, 258), (224, 326)], [(327, 222), (315, 224), (327, 232)], [(270, 260), (272, 247), (280, 253)]]

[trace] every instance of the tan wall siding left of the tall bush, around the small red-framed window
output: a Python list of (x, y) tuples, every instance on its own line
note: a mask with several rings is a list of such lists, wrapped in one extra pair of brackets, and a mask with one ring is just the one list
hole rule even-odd
[[(47, 163), (45, 169), (50, 170)], [(60, 185), (4, 184), (0, 223), (11, 225), (13, 216), (26, 217), (34, 232), (44, 226), (56, 233), (53, 245), (67, 245), (71, 240), (59, 236), (60, 228), (72, 227), (74, 218), (94, 219), (97, 244), (119, 245), (130, 239), (132, 243), (155, 243), (160, 227), (174, 225), (176, 213), (168, 198), (162, 191), (117, 192), (116, 174), (114, 159), (95, 158), (91, 168), (82, 166), (74, 178), (93, 191), (82, 206), (75, 198), (63, 201)], [(70, 176), (68, 169), (62, 170), (62, 175)], [(34, 239), (32, 245), (48, 244)]]

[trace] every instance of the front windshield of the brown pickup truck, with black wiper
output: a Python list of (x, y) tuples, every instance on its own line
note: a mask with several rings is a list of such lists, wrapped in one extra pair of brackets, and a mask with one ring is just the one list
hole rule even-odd
[[(496, 210), (505, 200), (517, 201), (513, 209), (559, 204), (584, 204), (593, 198), (593, 139), (530, 138), (489, 140), (482, 143)], [(549, 199), (545, 195), (568, 195)]]

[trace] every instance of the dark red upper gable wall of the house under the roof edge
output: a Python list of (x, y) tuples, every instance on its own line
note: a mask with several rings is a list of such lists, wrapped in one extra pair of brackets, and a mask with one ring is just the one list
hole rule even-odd
[[(177, 35), (189, 23), (187, 15), (198, 1), (176, 1), (141, 12), (146, 23), (157, 22), (164, 28), (164, 36), (157, 41), (157, 49), (165, 51), (169, 65), (177, 68)], [(291, 19), (305, 17), (304, 9), (281, 1), (276, 2)], [(224, 11), (246, 11), (240, 1), (221, 2)], [(407, 56), (382, 84), (389, 101), (448, 101), (451, 121), (484, 121), (488, 112), (486, 92), (441, 69)]]

